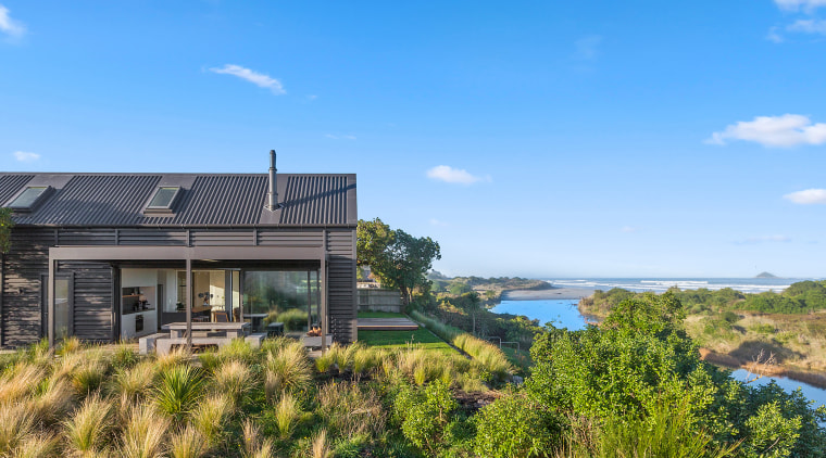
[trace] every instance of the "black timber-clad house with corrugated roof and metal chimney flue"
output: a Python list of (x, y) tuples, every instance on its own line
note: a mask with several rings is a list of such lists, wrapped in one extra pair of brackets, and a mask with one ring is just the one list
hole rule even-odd
[[(243, 316), (356, 339), (355, 175), (0, 174), (0, 346)], [(285, 321), (286, 320), (286, 321)]]

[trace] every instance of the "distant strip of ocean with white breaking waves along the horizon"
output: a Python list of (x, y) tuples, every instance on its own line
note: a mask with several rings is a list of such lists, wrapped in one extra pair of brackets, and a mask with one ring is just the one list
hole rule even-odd
[(653, 291), (665, 292), (668, 288), (677, 287), (680, 290), (722, 290), (730, 288), (743, 293), (762, 293), (774, 291), (776, 293), (789, 288), (791, 283), (803, 280), (821, 280), (816, 278), (554, 278), (543, 279), (554, 287), (585, 288), (608, 291), (612, 288), (622, 288), (634, 292)]

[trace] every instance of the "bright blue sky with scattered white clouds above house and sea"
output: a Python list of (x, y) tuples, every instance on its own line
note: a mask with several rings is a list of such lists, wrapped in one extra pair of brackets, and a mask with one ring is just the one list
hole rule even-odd
[(826, 0), (0, 0), (0, 167), (275, 149), (446, 273), (824, 277), (824, 74)]

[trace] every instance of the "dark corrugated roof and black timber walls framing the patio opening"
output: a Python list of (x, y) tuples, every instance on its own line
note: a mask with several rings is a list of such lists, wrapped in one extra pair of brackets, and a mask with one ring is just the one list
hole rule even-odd
[[(278, 174), (275, 182), (280, 206), (271, 211), (266, 174), (0, 173), (0, 206), (29, 187), (50, 191), (30, 212), (14, 214), (12, 249), (0, 266), (0, 346), (49, 335), (50, 271), (70, 284), (61, 294), (68, 294), (62, 301), (71, 332), (112, 341), (121, 336), (123, 266), (183, 269), (185, 260), (241, 271), (324, 268), (325, 325), (337, 341), (352, 342), (355, 176)], [(159, 188), (179, 192), (167, 213), (147, 212)]]

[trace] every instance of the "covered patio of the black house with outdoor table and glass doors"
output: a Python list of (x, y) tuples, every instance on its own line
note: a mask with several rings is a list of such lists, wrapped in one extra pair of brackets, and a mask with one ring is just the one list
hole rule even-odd
[(239, 338), (256, 346), (267, 326), (310, 347), (333, 341), (326, 246), (54, 246), (46, 314), (52, 346), (71, 334), (70, 317), (78, 311), (62, 297), (60, 268), (85, 262), (112, 266), (113, 297), (121, 298), (112, 310), (113, 339), (138, 338), (143, 352)]

